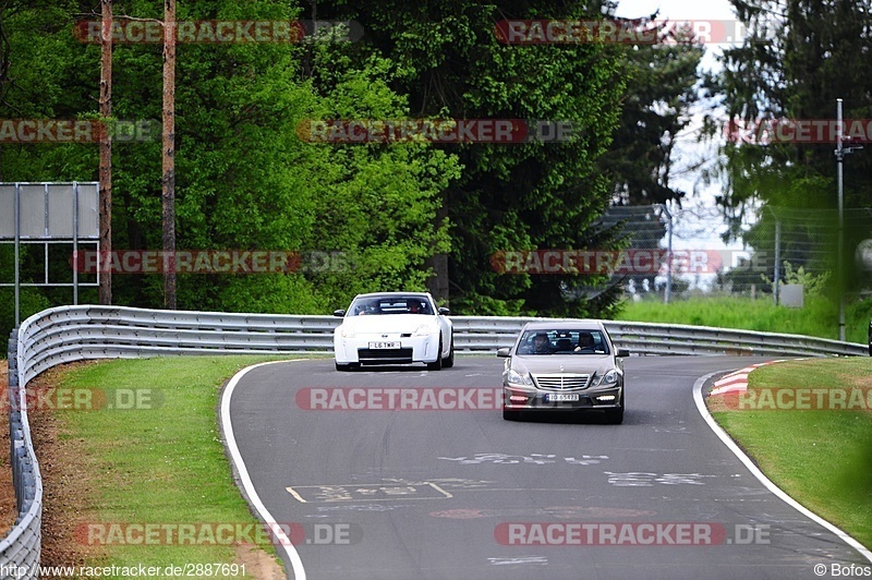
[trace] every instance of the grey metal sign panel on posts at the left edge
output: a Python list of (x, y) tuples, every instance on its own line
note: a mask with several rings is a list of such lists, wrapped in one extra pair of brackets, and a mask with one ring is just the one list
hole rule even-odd
[[(16, 203), (17, 200), (17, 203)], [(0, 183), (0, 240), (98, 240), (97, 182)]]

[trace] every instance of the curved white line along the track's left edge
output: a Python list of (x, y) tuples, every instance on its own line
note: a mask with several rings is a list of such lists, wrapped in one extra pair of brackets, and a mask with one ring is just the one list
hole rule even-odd
[(290, 537), (286, 535), (282, 531), (281, 525), (276, 521), (276, 518), (266, 509), (266, 506), (261, 500), (261, 496), (257, 495), (257, 492), (254, 490), (254, 484), (252, 483), (252, 478), (249, 475), (249, 469), (245, 467), (245, 461), (242, 459), (242, 455), (239, 452), (239, 446), (237, 445), (237, 439), (233, 434), (233, 424), (230, 421), (230, 398), (233, 396), (233, 390), (237, 388), (237, 385), (242, 379), (249, 371), (254, 368), (258, 368), (261, 366), (266, 366), (267, 364), (279, 364), (279, 363), (287, 363), (287, 362), (298, 362), (298, 361), (305, 361), (306, 359), (293, 359), (292, 361), (272, 361), (266, 363), (259, 363), (252, 366), (246, 366), (235, 375), (230, 382), (227, 384), (223, 394), (221, 395), (221, 431), (225, 434), (225, 442), (227, 442), (227, 450), (230, 452), (230, 457), (233, 460), (233, 466), (237, 468), (239, 472), (240, 481), (242, 482), (242, 486), (245, 488), (245, 495), (249, 496), (249, 502), (251, 503), (252, 507), (257, 510), (257, 513), (261, 515), (261, 518), (264, 520), (264, 523), (270, 527), (272, 533), (275, 534), (276, 540), (278, 540), (278, 544), (284, 549), (284, 553), (288, 555), (288, 559), (291, 561), (291, 569), (293, 570), (293, 578), (296, 580), (305, 580), (306, 578), (306, 570), (303, 568), (303, 560), (300, 559), (300, 554), (296, 552), (296, 548), (291, 543)]

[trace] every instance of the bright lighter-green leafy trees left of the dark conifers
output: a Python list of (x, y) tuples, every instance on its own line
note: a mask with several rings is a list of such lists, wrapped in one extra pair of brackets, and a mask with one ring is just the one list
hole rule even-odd
[[(15, 31), (9, 75), (17, 83), (7, 86), (3, 117), (98, 116), (99, 46), (73, 34), (81, 14), (99, 20), (95, 7), (70, 2), (52, 7), (49, 15), (22, 7), (3, 22), (7, 31)], [(162, 20), (161, 3), (152, 0), (117, 0), (114, 12), (119, 21), (121, 15)], [(288, 2), (275, 0), (190, 0), (178, 7), (179, 21), (291, 21), (298, 15)], [(303, 256), (334, 252), (337, 261), (326, 267), (292, 263), (292, 271), (278, 274), (180, 274), (182, 309), (324, 313), (371, 286), (423, 289), (425, 257), (447, 249), (444, 232), (433, 223), (438, 193), (458, 173), (457, 160), (426, 145), (337, 153), (301, 140), (296, 130), (306, 119), (340, 111), (408, 114), (404, 97), (387, 86), (384, 63), (337, 71), (335, 86), (319, 94), (302, 73), (307, 50), (281, 43), (179, 45), (177, 246)], [(119, 119), (160, 119), (159, 44), (117, 44), (113, 74)], [(119, 251), (161, 247), (159, 136), (156, 131), (153, 141), (113, 148)], [(97, 177), (97, 147), (89, 144), (3, 145), (0, 158), (10, 180)], [(0, 270), (7, 274), (5, 263)], [(162, 303), (159, 273), (116, 276), (114, 281), (117, 304)], [(69, 295), (40, 293), (55, 303), (69, 302)], [(82, 300), (96, 301), (96, 292), (83, 292)]]

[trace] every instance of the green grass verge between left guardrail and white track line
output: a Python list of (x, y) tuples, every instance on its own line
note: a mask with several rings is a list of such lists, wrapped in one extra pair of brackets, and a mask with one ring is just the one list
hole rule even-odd
[[(61, 436), (77, 439), (84, 446), (83, 461), (96, 493), (90, 502), (94, 509), (89, 520), (137, 524), (256, 524), (257, 520), (231, 478), (220, 439), (218, 406), (226, 379), (244, 366), (267, 360), (282, 358), (117, 360), (62, 373), (57, 385), (60, 388), (144, 389), (138, 390), (145, 395), (140, 399), (141, 407), (156, 407), (121, 410), (116, 403), (111, 410), (55, 411), (62, 424)], [(101, 530), (109, 533), (107, 540), (113, 537), (112, 528)], [(78, 530), (78, 533), (85, 531)], [(262, 539), (264, 535), (261, 534)], [(113, 540), (105, 546), (105, 557), (89, 565), (135, 567), (142, 563), (164, 568), (237, 561), (234, 546), (211, 545), (207, 536), (202, 536), (203, 541), (195, 545), (166, 545), (162, 541), (130, 545), (125, 540), (119, 542), (117, 536)], [(81, 535), (78, 541), (84, 541)], [(258, 543), (275, 556), (269, 542)], [(251, 578), (251, 573), (247, 577)], [(243, 576), (240, 572), (223, 578)]]

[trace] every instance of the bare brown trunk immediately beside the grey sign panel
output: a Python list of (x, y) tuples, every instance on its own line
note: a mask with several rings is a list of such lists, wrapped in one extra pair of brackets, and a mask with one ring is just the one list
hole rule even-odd
[[(102, 29), (100, 36), (100, 116), (104, 122), (112, 116), (112, 0), (101, 0)], [(112, 134), (104, 125), (100, 134), (100, 251), (112, 252)], [(78, 257), (78, 256), (76, 256)], [(100, 261), (100, 264), (104, 262)], [(102, 269), (102, 268), (100, 268)], [(100, 273), (100, 304), (112, 303), (112, 271)]]

